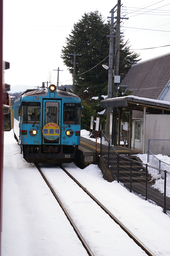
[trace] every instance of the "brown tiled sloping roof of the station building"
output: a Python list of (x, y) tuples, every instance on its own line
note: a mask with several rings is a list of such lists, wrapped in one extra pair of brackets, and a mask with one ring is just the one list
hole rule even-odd
[[(170, 53), (131, 66), (120, 86), (128, 86), (131, 95), (157, 100), (170, 80)], [(134, 111), (133, 118), (142, 118)]]

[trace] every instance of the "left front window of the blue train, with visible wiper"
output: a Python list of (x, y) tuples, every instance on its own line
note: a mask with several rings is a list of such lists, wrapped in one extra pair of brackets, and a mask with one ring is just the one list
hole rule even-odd
[(41, 122), (41, 103), (22, 102), (22, 124), (40, 124)]

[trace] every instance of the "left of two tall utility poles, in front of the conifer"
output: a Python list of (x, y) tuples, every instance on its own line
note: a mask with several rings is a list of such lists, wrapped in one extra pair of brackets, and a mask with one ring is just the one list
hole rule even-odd
[[(118, 5), (118, 4), (117, 4)], [(117, 5), (110, 11), (111, 17), (111, 27), (110, 27), (110, 46), (109, 46), (109, 74), (108, 74), (108, 91), (107, 91), (107, 98), (110, 99), (113, 97), (113, 38), (115, 37), (114, 35), (114, 12), (115, 8)], [(112, 114), (112, 108), (109, 107), (107, 108), (107, 117), (106, 117), (106, 137), (108, 140), (111, 140), (111, 135), (110, 135), (110, 114)]]

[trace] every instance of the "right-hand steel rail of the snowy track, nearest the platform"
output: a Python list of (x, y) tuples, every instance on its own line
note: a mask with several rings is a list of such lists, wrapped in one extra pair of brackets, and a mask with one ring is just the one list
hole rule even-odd
[(84, 190), (127, 234), (130, 238), (134, 240), (134, 242), (148, 254), (148, 256), (155, 256), (153, 252), (151, 252), (128, 228), (125, 227), (103, 204), (101, 204), (85, 187), (83, 187), (65, 168), (61, 165), (58, 165), (77, 185)]

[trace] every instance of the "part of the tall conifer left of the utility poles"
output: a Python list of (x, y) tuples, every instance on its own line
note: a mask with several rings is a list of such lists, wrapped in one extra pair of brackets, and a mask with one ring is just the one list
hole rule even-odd
[[(68, 53), (78, 53), (82, 56), (76, 57), (76, 74), (75, 90), (81, 88), (93, 87), (99, 90), (99, 85), (108, 79), (108, 73), (99, 64), (109, 55), (109, 41), (106, 36), (109, 33), (109, 23), (104, 23), (102, 15), (96, 10), (95, 12), (85, 13), (82, 19), (73, 26), (73, 30), (68, 38), (66, 38), (66, 46), (61, 50), (61, 58), (68, 67), (69, 72), (73, 74), (73, 56)], [(108, 65), (109, 59), (105, 64)], [(90, 70), (93, 68), (92, 70)], [(78, 76), (79, 74), (90, 70), (89, 72)]]

